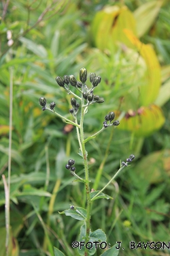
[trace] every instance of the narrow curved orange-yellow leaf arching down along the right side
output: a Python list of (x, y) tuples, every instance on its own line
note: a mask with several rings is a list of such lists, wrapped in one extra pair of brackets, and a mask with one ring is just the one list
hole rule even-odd
[(141, 57), (146, 61), (145, 83), (139, 87), (139, 104), (141, 106), (148, 106), (150, 103), (153, 103), (158, 96), (160, 89), (160, 65), (156, 53), (150, 44), (141, 43), (129, 29), (124, 29), (124, 33), (126, 33)]

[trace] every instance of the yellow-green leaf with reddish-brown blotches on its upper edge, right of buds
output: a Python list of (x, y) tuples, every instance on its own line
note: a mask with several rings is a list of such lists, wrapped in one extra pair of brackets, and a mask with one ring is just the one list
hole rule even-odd
[(137, 111), (129, 110), (120, 122), (121, 130), (129, 130), (135, 136), (145, 137), (163, 126), (165, 117), (162, 110), (152, 104), (141, 106)]

